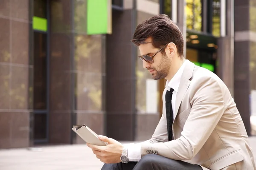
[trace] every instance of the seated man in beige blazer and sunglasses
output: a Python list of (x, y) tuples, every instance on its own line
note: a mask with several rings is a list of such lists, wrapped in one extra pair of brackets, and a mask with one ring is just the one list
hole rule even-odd
[(183, 36), (164, 14), (137, 26), (132, 42), (152, 78), (167, 79), (163, 115), (151, 139), (87, 144), (102, 170), (256, 170), (248, 136), (224, 82), (183, 57)]

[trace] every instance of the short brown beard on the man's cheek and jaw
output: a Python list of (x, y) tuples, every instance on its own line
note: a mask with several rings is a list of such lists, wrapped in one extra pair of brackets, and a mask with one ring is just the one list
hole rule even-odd
[(152, 79), (158, 80), (163, 79), (168, 76), (169, 70), (172, 66), (172, 61), (169, 59), (166, 54), (162, 56), (160, 64), (156, 68), (150, 68), (155, 70), (155, 73), (152, 74)]

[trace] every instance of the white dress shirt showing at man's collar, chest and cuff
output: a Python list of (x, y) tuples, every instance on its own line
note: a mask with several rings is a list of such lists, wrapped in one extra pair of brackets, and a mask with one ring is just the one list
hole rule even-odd
[[(167, 80), (166, 82), (166, 90), (170, 91), (171, 88), (174, 90), (172, 92), (172, 111), (174, 114), (175, 114), (176, 96), (177, 96), (178, 88), (180, 86), (180, 79), (185, 67), (185, 62), (183, 62), (183, 64), (181, 65), (177, 73), (174, 75), (174, 77), (170, 81)], [(175, 117), (175, 115), (173, 116)], [(134, 144), (134, 143), (125, 144), (124, 147), (127, 148), (129, 161), (139, 161), (141, 159), (140, 144)]]

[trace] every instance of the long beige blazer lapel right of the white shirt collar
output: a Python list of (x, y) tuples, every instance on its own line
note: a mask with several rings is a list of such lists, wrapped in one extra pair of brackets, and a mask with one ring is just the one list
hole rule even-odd
[(194, 67), (195, 67), (195, 64), (190, 62), (189, 60), (187, 60), (184, 71), (183, 71), (181, 79), (180, 79), (180, 86), (178, 88), (178, 93), (176, 96), (174, 120), (177, 116), (183, 96), (185, 95), (187, 89), (189, 88), (189, 85), (190, 85), (189, 79), (193, 75)]

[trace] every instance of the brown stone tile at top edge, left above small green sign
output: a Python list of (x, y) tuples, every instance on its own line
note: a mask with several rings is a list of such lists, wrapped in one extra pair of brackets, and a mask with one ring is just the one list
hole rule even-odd
[(29, 21), (29, 0), (10, 0), (11, 17)]

